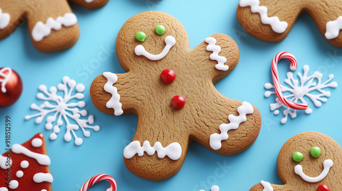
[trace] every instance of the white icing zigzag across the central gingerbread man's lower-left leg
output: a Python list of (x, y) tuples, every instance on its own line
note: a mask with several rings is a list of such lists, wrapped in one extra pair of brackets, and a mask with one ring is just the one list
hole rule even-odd
[(160, 142), (156, 142), (153, 147), (150, 146), (150, 142), (144, 141), (144, 144), (140, 146), (140, 141), (133, 141), (124, 148), (124, 158), (132, 158), (137, 154), (143, 156), (144, 152), (149, 156), (153, 156), (157, 152), (158, 158), (165, 158), (168, 156), (172, 160), (179, 160), (182, 155), (182, 147), (179, 143), (171, 143), (170, 145), (163, 147)]

